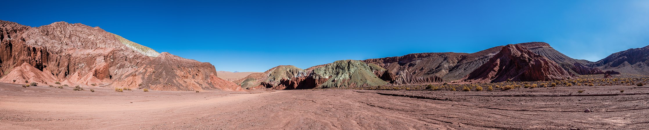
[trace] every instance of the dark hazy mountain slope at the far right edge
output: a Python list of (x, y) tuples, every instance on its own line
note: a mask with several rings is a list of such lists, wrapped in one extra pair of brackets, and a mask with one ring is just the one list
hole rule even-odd
[(595, 65), (602, 70), (615, 70), (628, 74), (649, 74), (649, 46), (615, 52), (597, 61)]

